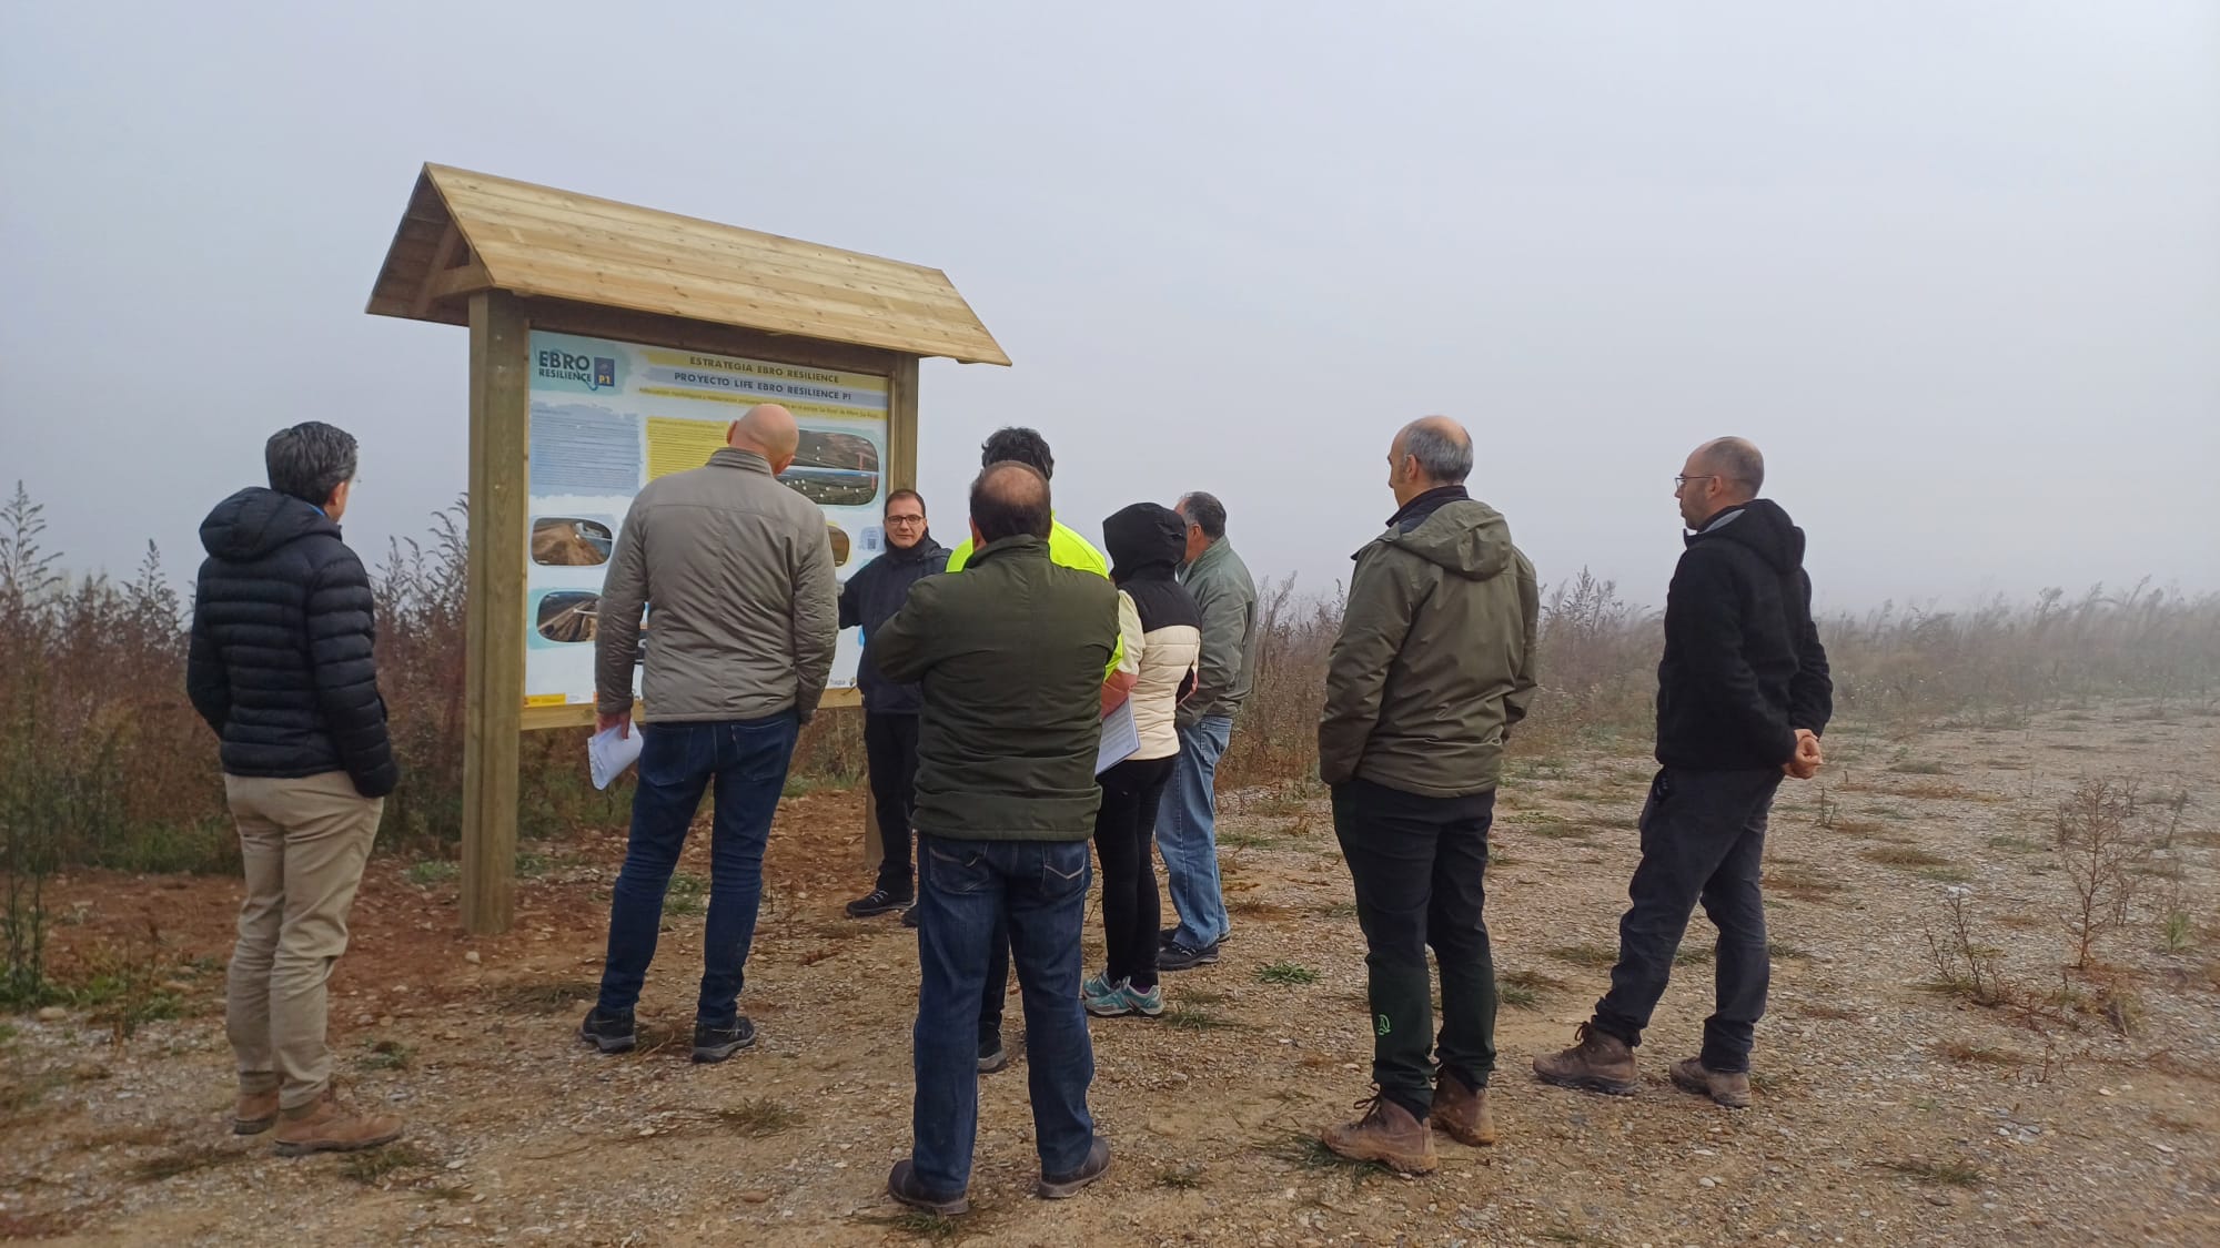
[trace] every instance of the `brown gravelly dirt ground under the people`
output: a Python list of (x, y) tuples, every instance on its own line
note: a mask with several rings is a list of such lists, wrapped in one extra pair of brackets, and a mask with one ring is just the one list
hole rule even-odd
[[(1097, 1019), (1110, 1177), (1037, 1201), (1026, 1064), (981, 1084), (977, 1210), (904, 1217), (915, 946), (850, 922), (859, 795), (779, 811), (744, 1006), (761, 1044), (686, 1061), (704, 846), (690, 846), (639, 1013), (650, 1041), (573, 1039), (599, 970), (622, 831), (531, 846), (517, 926), (457, 933), (437, 866), (373, 862), (333, 977), (351, 1095), (402, 1146), (278, 1159), (224, 1130), (222, 959), (238, 884), (60, 886), (64, 973), (133, 975), (173, 1019), (118, 1039), (113, 1006), (0, 1024), (0, 1237), (84, 1244), (2220, 1244), (2220, 717), (2100, 706), (1896, 739), (1843, 726), (1783, 788), (1767, 851), (1772, 1010), (1758, 1104), (1674, 1090), (1709, 1002), (1698, 915), (1629, 1099), (1541, 1086), (1603, 988), (1649, 766), (1563, 751), (1505, 779), (1490, 926), (1510, 984), (1503, 1141), (1443, 1139), (1399, 1179), (1305, 1148), (1365, 1095), (1363, 946), (1323, 802), (1230, 795), (1234, 935), (1170, 975), (1161, 1021)], [(2071, 957), (2051, 813), (2082, 777), (2187, 793), (2142, 899)], [(2164, 806), (2164, 802), (2158, 802)], [(699, 837), (697, 837), (699, 842)], [(2011, 1006), (1931, 988), (1927, 930), (1965, 888)], [(2162, 910), (2184, 908), (2171, 942)], [(1099, 919), (1088, 917), (1090, 968)], [(2178, 946), (2169, 950), (2171, 946)], [(153, 982), (153, 979), (158, 982)], [(151, 984), (151, 986), (144, 986)], [(1019, 1015), (1012, 999), (1012, 1024)]]

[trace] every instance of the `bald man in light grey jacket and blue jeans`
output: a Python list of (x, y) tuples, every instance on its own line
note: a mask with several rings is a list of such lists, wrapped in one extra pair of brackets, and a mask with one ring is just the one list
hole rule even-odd
[(795, 735), (833, 673), (839, 604), (824, 511), (779, 484), (801, 433), (748, 409), (708, 464), (639, 491), (617, 533), (595, 633), (597, 728), (633, 728), (639, 613), (653, 611), (633, 839), (610, 893), (602, 999), (579, 1039), (635, 1044), (633, 1004), (655, 959), (664, 888), (702, 791), (717, 784), (695, 1061), (755, 1044), (739, 988), (764, 897), (764, 842)]

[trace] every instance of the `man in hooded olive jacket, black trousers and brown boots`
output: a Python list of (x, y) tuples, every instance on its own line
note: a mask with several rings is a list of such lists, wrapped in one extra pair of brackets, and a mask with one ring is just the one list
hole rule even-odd
[[(1388, 453), (1399, 511), (1356, 553), (1325, 675), (1319, 777), (1356, 884), (1372, 997), (1372, 1110), (1330, 1128), (1345, 1157), (1434, 1168), (1432, 1126), (1494, 1144), (1496, 975), (1481, 875), (1503, 739), (1534, 691), (1541, 595), (1510, 526), (1465, 493), (1472, 440), (1447, 417)], [(1441, 1077), (1425, 948), (1441, 964)]]

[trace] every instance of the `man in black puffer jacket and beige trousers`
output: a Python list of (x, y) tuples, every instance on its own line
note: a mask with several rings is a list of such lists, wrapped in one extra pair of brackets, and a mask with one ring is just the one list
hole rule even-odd
[(331, 1090), (324, 984), (397, 768), (371, 655), (371, 577), (340, 540), (355, 440), (322, 422), (269, 440), (269, 489), (200, 524), (184, 686), (222, 739), (246, 902), (231, 953), (226, 1030), (240, 1097), (231, 1128), (278, 1126), (278, 1153), (373, 1148), (393, 1115)]

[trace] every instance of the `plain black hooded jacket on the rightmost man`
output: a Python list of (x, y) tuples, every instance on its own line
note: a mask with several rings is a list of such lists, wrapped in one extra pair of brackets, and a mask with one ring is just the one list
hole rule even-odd
[(1665, 591), (1661, 764), (1774, 768), (1796, 753), (1796, 728), (1827, 731), (1834, 682), (1803, 551), (1803, 529), (1763, 497), (1687, 537)]

